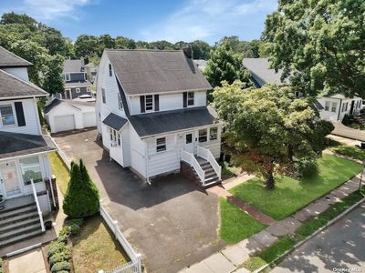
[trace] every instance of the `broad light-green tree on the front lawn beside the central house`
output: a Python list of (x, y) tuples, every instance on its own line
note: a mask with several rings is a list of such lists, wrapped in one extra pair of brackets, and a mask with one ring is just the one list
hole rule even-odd
[(307, 98), (288, 87), (242, 89), (236, 81), (214, 91), (214, 106), (225, 122), (225, 139), (233, 160), (275, 187), (275, 173), (295, 173), (297, 163), (315, 160), (333, 126), (318, 118)]

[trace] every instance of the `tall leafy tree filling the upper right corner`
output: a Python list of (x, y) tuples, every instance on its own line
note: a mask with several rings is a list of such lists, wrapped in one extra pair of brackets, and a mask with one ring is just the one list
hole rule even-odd
[(272, 65), (308, 95), (365, 97), (365, 2), (280, 0), (263, 33)]

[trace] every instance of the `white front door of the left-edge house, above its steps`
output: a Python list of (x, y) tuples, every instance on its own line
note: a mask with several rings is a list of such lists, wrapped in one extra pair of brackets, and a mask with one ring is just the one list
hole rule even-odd
[(0, 179), (5, 197), (18, 197), (22, 195), (20, 180), (16, 173), (16, 162), (9, 161), (0, 164)]

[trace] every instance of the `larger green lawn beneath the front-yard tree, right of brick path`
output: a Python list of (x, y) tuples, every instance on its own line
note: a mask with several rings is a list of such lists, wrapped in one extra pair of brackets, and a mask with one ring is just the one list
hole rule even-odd
[(358, 163), (331, 155), (323, 155), (318, 160), (318, 166), (318, 175), (310, 179), (276, 177), (274, 190), (267, 190), (262, 179), (253, 178), (232, 188), (230, 192), (266, 215), (280, 220), (339, 187), (360, 173), (362, 168)]

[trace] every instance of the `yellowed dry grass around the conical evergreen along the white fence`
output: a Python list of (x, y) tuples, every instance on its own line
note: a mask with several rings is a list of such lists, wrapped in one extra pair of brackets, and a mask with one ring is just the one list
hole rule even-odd
[[(63, 164), (57, 153), (51, 153), (49, 159), (52, 172), (57, 177), (57, 186), (65, 195), (69, 181), (68, 167)], [(79, 234), (71, 237), (71, 240), (76, 273), (98, 272), (99, 269), (110, 270), (129, 260), (100, 216), (85, 218)]]

